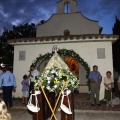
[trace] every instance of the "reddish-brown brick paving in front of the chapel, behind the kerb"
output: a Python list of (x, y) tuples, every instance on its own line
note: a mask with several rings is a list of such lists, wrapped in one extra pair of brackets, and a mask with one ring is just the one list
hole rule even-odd
[[(92, 107), (90, 105), (90, 101), (88, 94), (80, 93), (80, 94), (74, 94), (74, 107), (77, 110), (98, 110), (98, 111), (120, 111), (120, 105), (116, 105), (114, 107), (106, 107), (104, 102), (101, 104), (101, 106), (94, 106)], [(23, 106), (21, 104), (21, 99), (20, 100), (14, 100), (14, 106)]]

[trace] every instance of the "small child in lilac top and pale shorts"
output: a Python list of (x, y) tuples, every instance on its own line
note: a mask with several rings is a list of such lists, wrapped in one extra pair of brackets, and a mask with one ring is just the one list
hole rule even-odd
[(23, 97), (22, 97), (22, 104), (27, 104), (28, 102), (28, 91), (29, 91), (29, 81), (28, 81), (28, 76), (24, 75), (23, 76), (23, 81), (22, 81), (22, 92), (23, 92)]

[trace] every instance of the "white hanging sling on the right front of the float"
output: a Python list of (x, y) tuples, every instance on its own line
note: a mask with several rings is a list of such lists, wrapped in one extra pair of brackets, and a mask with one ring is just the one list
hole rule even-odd
[[(65, 89), (65, 90), (62, 91), (62, 100), (61, 100), (60, 108), (61, 108), (66, 114), (72, 114), (72, 112), (71, 112), (71, 107), (70, 107), (70, 101), (69, 101), (69, 97), (68, 97), (68, 95), (69, 95), (70, 93), (71, 93), (71, 91), (68, 90), (68, 89)], [(69, 108), (63, 104), (63, 101), (64, 101), (64, 97), (65, 97), (65, 96), (67, 96)]]

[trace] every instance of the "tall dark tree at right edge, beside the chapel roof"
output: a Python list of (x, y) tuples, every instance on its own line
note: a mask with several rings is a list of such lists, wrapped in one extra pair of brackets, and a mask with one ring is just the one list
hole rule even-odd
[[(120, 20), (115, 16), (115, 23), (113, 27), (113, 34), (120, 35)], [(113, 44), (113, 66), (120, 72), (120, 38)]]

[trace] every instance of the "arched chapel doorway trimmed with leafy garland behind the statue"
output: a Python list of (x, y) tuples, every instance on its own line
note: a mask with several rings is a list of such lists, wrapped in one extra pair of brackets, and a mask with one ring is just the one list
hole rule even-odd
[[(74, 65), (76, 66), (75, 72), (78, 78), (80, 79), (80, 86), (82, 86), (80, 89), (83, 92), (87, 91), (88, 90), (87, 78), (90, 72), (88, 63), (85, 62), (84, 59), (81, 58), (80, 55), (74, 52), (73, 50), (59, 49), (58, 53), (65, 60), (65, 62), (69, 61), (67, 63), (69, 68), (72, 69), (73, 63), (74, 63)], [(43, 72), (46, 64), (48, 63), (52, 55), (53, 55), (53, 52), (46, 53), (44, 55), (39, 55), (39, 57), (37, 57), (32, 64), (35, 64), (38, 67), (38, 70), (40, 72)]]

